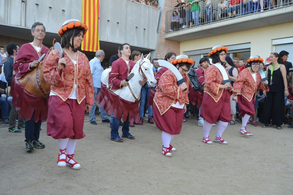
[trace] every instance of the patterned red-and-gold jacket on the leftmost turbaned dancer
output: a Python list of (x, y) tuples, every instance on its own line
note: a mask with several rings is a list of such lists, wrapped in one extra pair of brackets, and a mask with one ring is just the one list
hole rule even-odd
[(44, 79), (51, 86), (51, 91), (59, 96), (63, 101), (67, 100), (76, 84), (77, 102), (80, 104), (86, 99), (86, 104), (94, 104), (93, 78), (91, 75), (88, 58), (83, 53), (77, 51), (76, 65), (64, 52), (66, 59), (65, 68), (59, 73), (57, 70), (59, 52), (53, 50), (49, 53), (44, 66)]

